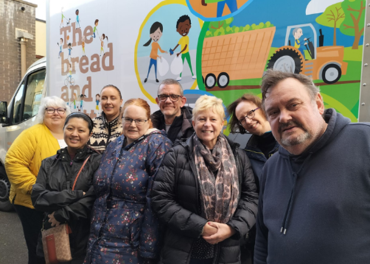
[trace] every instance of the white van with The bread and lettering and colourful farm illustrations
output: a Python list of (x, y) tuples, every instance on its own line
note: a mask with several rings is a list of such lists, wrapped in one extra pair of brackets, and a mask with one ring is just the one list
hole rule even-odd
[(0, 103), (0, 210), (11, 209), (6, 152), (36, 123), (43, 96), (95, 117), (97, 95), (113, 84), (124, 101), (141, 97), (154, 112), (158, 82), (172, 78), (181, 79), (189, 104), (208, 94), (227, 106), (243, 93), (260, 95), (273, 68), (310, 76), (325, 107), (370, 121), (370, 0), (201, 2), (48, 1), (47, 58)]

